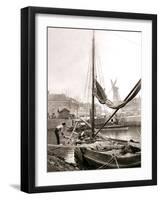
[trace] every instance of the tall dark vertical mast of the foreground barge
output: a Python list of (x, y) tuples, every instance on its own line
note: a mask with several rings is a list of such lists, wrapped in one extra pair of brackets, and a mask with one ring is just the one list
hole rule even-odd
[(92, 125), (92, 137), (94, 136), (94, 127), (95, 127), (95, 106), (94, 106), (94, 89), (95, 89), (95, 35), (93, 31), (92, 39), (92, 108), (91, 108), (91, 125)]

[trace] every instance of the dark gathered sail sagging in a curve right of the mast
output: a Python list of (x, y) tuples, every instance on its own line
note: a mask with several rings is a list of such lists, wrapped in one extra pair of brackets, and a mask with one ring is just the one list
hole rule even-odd
[(95, 80), (94, 95), (101, 104), (105, 104), (106, 106), (108, 106), (109, 108), (112, 108), (112, 109), (120, 109), (120, 108), (124, 107), (129, 101), (131, 101), (138, 94), (140, 89), (141, 89), (141, 79), (137, 82), (137, 84), (131, 90), (131, 92), (126, 97), (126, 99), (124, 99), (124, 101), (122, 101), (121, 103), (116, 105), (107, 98), (107, 95), (106, 95), (104, 89), (99, 84), (99, 82), (97, 80)]

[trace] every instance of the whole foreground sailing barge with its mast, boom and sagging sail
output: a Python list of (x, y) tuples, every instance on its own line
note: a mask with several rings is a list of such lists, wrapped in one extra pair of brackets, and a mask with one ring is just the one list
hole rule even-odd
[[(137, 82), (134, 88), (129, 92), (127, 97), (118, 104), (111, 102), (102, 86), (97, 80), (95, 69), (95, 38), (93, 32), (92, 42), (92, 106), (91, 106), (91, 124), (88, 127), (91, 129), (90, 140), (96, 141), (98, 135), (115, 114), (126, 106), (140, 91), (141, 80)], [(105, 121), (105, 123), (96, 130), (95, 126), (95, 98), (99, 103), (106, 105), (108, 108), (114, 110), (112, 115)], [(141, 166), (141, 148), (140, 144), (132, 141), (109, 141), (104, 140), (102, 144), (104, 148), (98, 148), (99, 143), (95, 142), (95, 147), (92, 144), (84, 144), (75, 147), (74, 156), (76, 163), (80, 169), (112, 169), (112, 168), (131, 168)]]

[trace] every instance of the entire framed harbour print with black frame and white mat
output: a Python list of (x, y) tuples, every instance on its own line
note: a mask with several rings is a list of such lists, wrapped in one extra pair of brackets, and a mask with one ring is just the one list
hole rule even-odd
[(21, 10), (21, 190), (157, 184), (157, 16)]

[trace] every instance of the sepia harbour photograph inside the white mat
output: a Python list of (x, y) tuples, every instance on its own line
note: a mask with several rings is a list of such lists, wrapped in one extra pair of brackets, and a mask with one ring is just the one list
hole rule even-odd
[(47, 172), (141, 167), (142, 33), (47, 28)]

